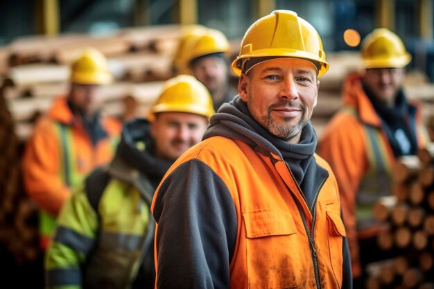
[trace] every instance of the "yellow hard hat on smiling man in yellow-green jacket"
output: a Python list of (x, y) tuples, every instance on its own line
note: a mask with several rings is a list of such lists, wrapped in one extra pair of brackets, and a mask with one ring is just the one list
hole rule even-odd
[(207, 87), (194, 76), (184, 74), (164, 82), (163, 91), (150, 109), (148, 119), (153, 121), (159, 112), (189, 112), (208, 118), (215, 113)]

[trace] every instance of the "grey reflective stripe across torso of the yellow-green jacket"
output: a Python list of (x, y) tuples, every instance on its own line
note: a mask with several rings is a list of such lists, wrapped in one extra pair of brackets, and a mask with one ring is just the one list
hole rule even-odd
[(141, 248), (144, 236), (119, 234), (111, 231), (101, 232), (101, 247), (104, 249), (125, 249), (134, 251)]

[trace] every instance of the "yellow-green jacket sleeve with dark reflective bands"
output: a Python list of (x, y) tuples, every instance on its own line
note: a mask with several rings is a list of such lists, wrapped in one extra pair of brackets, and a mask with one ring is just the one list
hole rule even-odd
[(84, 185), (62, 208), (53, 240), (46, 252), (46, 288), (82, 288), (81, 267), (94, 247), (98, 215), (89, 204)]

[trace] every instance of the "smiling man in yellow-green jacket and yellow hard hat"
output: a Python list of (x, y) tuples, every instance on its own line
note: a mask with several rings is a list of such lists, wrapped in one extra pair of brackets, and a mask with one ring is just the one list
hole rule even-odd
[(123, 127), (116, 156), (94, 170), (62, 209), (46, 257), (46, 288), (154, 288), (150, 204), (162, 177), (202, 139), (214, 114), (193, 76), (168, 80), (150, 123)]

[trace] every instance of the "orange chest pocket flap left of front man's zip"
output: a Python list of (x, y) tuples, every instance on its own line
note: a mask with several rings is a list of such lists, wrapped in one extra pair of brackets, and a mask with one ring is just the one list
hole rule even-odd
[(274, 209), (243, 211), (246, 236), (259, 238), (296, 234), (297, 229), (290, 213)]

